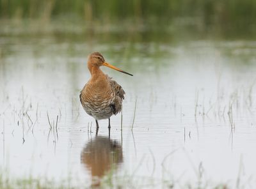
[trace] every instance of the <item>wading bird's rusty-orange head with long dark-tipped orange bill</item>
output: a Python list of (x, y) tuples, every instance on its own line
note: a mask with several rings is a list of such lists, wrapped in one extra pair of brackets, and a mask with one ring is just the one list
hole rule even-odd
[(125, 72), (125, 71), (123, 71), (119, 68), (116, 68), (115, 66), (107, 63), (105, 61), (104, 57), (102, 56), (102, 54), (100, 54), (99, 52), (93, 52), (88, 57), (88, 68), (89, 68), (89, 70), (90, 70), (91, 66), (95, 66), (95, 67), (107, 66), (109, 68), (112, 68), (113, 70), (117, 70), (118, 72), (126, 73), (128, 75), (132, 75), (131, 73)]

